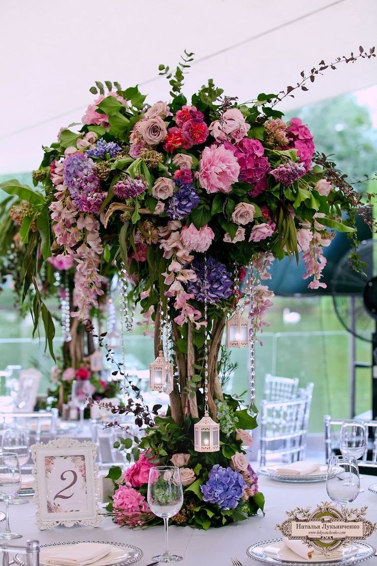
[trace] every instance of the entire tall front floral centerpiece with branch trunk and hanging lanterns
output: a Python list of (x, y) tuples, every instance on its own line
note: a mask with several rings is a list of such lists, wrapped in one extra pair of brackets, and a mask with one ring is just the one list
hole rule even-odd
[[(359, 57), (374, 57), (374, 50), (361, 48), (330, 66)], [(1, 186), (20, 199), (23, 292), (33, 286), (33, 315), (41, 315), (48, 340), (52, 320), (39, 276), (43, 266), (52, 276), (58, 262), (74, 273), (73, 319), (89, 321), (116, 276), (124, 329), (130, 297), (154, 321), (150, 386), (169, 394), (170, 408), (154, 418), (158, 407), (150, 411), (125, 376), (135, 396), (119, 412), (134, 413), (148, 428), (135, 464), (124, 476), (112, 471), (124, 480), (111, 504), (115, 520), (140, 525), (150, 518), (148, 470), (173, 463), (185, 487), (175, 521), (207, 529), (263, 508), (244, 447), (256, 426), (253, 351), (271, 305), (271, 261), (302, 252), (310, 288), (323, 287), (323, 247), (334, 229), (352, 235), (356, 211), (364, 209), (361, 195), (315, 153), (307, 126), (298, 118), (284, 122), (276, 109), (328, 65), (303, 71), (302, 81), (279, 95), (242, 103), (212, 80), (188, 100), (181, 91), (190, 61), (186, 54), (174, 74), (160, 66), (170, 101), (150, 105), (137, 87), (96, 83), (81, 123), (62, 128), (44, 148), (33, 174), (37, 190), (16, 181)], [(222, 391), (226, 326), (229, 346), (250, 346), (246, 405)], [(105, 333), (99, 342), (106, 347)], [(118, 370), (124, 374), (122, 362)], [(125, 439), (120, 448), (131, 444)]]

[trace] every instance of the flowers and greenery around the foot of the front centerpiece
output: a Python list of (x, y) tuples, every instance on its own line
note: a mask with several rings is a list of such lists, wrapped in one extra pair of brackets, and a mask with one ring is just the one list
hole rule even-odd
[[(219, 402), (220, 451), (200, 453), (194, 451), (194, 423), (186, 418), (178, 426), (168, 411), (166, 417), (156, 417), (155, 426), (146, 429), (138, 446), (131, 449), (132, 439), (119, 439), (121, 451), (131, 449), (135, 464), (125, 472), (118, 466), (110, 469), (116, 486), (107, 512), (119, 525), (142, 527), (162, 524), (148, 507), (147, 491), (149, 470), (155, 465), (176, 465), (183, 484), (183, 506), (173, 524), (207, 530), (263, 512), (265, 498), (258, 491), (258, 478), (245, 456), (242, 445), (251, 444), (246, 432), (257, 426), (241, 408), (240, 400), (224, 395)], [(131, 453), (127, 453), (128, 461)]]

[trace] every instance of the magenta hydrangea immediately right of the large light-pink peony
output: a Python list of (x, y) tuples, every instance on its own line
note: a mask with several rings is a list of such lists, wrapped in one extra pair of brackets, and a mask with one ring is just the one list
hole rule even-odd
[(265, 148), (259, 140), (244, 138), (234, 145), (226, 141), (224, 146), (233, 152), (239, 162), (240, 181), (258, 183), (270, 170), (268, 159), (263, 156)]

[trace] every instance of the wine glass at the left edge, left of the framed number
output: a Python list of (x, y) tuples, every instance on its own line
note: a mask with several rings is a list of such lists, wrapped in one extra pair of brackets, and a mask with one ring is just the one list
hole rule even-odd
[(20, 538), (21, 534), (12, 533), (9, 526), (9, 503), (15, 498), (21, 488), (21, 469), (15, 452), (0, 454), (0, 495), (5, 501), (5, 530), (0, 533), (0, 539), (10, 540)]

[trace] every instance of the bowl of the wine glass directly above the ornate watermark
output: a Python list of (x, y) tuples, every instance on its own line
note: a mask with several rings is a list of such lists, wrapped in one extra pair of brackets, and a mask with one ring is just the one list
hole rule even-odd
[(346, 505), (357, 498), (360, 478), (357, 460), (353, 457), (332, 456), (328, 461), (327, 494), (332, 501)]

